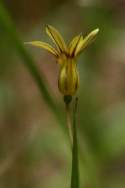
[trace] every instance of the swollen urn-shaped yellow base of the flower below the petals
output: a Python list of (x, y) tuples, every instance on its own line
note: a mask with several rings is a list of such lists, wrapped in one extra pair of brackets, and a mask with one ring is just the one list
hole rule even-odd
[(61, 66), (58, 87), (60, 92), (66, 95), (74, 95), (79, 86), (79, 75), (76, 69), (76, 62), (73, 59), (65, 59)]

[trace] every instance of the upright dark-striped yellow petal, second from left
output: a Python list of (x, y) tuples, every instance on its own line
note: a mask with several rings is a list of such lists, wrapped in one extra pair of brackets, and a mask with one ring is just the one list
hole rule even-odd
[(46, 26), (46, 33), (49, 35), (49, 37), (55, 43), (59, 52), (66, 52), (67, 51), (65, 41), (63, 40), (60, 33), (54, 27), (47, 25)]

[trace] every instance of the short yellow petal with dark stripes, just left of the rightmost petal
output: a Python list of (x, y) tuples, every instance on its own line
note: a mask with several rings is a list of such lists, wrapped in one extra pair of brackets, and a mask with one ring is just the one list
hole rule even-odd
[(80, 41), (83, 40), (82, 35), (77, 35), (76, 37), (74, 37), (71, 42), (69, 43), (69, 54), (70, 56), (73, 56), (75, 54), (76, 49), (78, 48), (78, 44), (80, 43)]

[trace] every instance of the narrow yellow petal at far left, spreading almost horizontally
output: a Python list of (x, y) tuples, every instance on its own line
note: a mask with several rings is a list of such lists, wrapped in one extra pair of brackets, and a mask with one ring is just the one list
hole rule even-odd
[(46, 49), (51, 54), (58, 56), (58, 52), (56, 51), (56, 49), (54, 49), (52, 46), (50, 46), (49, 44), (47, 44), (45, 42), (32, 41), (32, 42), (25, 42), (24, 44), (29, 44), (29, 45), (32, 45), (32, 46), (37, 47), (37, 48)]

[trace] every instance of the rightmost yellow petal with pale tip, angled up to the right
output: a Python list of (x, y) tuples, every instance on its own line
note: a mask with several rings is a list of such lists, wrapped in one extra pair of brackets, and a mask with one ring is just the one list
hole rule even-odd
[(80, 40), (77, 49), (75, 51), (75, 56), (77, 56), (84, 48), (86, 48), (90, 43), (93, 42), (98, 32), (99, 29), (97, 28), (93, 30), (91, 33), (89, 33), (83, 40)]

